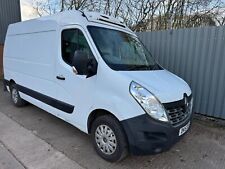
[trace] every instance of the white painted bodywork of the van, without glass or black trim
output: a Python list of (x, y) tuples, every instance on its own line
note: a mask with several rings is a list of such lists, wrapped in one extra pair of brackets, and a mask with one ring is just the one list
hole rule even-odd
[[(182, 79), (166, 70), (124, 72), (110, 69), (98, 53), (87, 25), (136, 35), (127, 27), (98, 21), (101, 17), (98, 13), (85, 15), (88, 20), (79, 11), (63, 12), (9, 26), (4, 48), (5, 79), (13, 79), (19, 85), (72, 104), (75, 109), (67, 114), (20, 92), (23, 99), (87, 132), (87, 119), (96, 109), (105, 109), (120, 121), (145, 113), (129, 93), (131, 81), (146, 87), (162, 103), (180, 100), (183, 93), (191, 94)], [(61, 31), (67, 28), (79, 28), (85, 35), (98, 62), (97, 75), (90, 78), (75, 75), (62, 60)], [(57, 80), (57, 75), (63, 75), (66, 80)]]

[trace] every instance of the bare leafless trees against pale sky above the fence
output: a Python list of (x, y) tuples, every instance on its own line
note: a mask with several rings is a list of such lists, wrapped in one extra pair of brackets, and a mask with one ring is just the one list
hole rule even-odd
[(225, 24), (222, 0), (33, 0), (33, 6), (40, 16), (98, 11), (119, 18), (134, 31)]

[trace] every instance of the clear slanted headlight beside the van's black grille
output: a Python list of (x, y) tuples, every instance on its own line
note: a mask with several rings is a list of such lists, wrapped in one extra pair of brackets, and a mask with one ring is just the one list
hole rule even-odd
[(152, 118), (159, 121), (168, 122), (166, 111), (163, 105), (147, 89), (136, 82), (131, 82), (130, 93), (145, 110), (145, 112)]

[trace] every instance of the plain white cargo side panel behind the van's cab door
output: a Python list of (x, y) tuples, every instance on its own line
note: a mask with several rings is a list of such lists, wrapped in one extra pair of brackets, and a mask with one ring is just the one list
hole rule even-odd
[(56, 31), (10, 34), (5, 43), (5, 79), (54, 98), (56, 58)]

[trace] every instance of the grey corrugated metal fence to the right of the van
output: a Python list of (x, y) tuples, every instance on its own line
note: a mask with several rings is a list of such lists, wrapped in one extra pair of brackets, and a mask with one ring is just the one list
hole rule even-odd
[(189, 83), (195, 112), (225, 119), (225, 27), (137, 35), (164, 68)]

